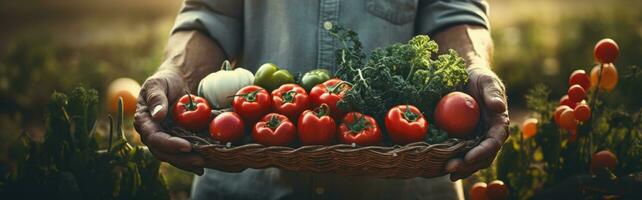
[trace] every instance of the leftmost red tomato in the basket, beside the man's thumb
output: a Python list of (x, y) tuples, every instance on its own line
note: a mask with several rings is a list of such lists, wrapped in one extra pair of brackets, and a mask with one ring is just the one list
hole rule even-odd
[(207, 127), (212, 110), (207, 104), (207, 100), (188, 93), (176, 102), (173, 113), (174, 120), (180, 127), (190, 131), (199, 131)]

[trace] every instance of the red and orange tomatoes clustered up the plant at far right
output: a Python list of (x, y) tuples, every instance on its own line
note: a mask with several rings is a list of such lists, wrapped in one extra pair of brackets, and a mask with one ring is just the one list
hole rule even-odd
[(611, 91), (618, 81), (613, 62), (619, 54), (619, 47), (612, 39), (600, 40), (593, 50), (599, 63), (591, 70), (590, 77), (584, 70), (575, 70), (569, 77), (567, 95), (560, 99), (555, 109), (554, 120), (561, 128), (570, 132), (569, 141), (577, 138), (577, 125), (591, 118), (591, 108), (586, 103), (589, 90)]

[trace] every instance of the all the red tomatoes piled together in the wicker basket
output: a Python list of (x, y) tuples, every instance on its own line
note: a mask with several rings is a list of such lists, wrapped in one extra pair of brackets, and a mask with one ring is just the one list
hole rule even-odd
[[(190, 131), (208, 127), (210, 136), (221, 143), (238, 143), (251, 129), (254, 141), (267, 146), (288, 146), (298, 141), (301, 145), (344, 144), (371, 146), (382, 143), (382, 130), (372, 117), (359, 112), (345, 112), (337, 108), (351, 85), (340, 79), (330, 79), (306, 90), (287, 83), (268, 92), (263, 87), (249, 85), (233, 96), (233, 112), (224, 112), (211, 120), (211, 109), (204, 98), (187, 94), (174, 106), (177, 124)], [(457, 113), (476, 112), (475, 100), (461, 92), (446, 95), (438, 103), (436, 115), (440, 128), (464, 136), (472, 132), (477, 119), (460, 123)], [(468, 115), (470, 116), (470, 115)], [(463, 124), (463, 125), (462, 125)], [(470, 126), (468, 126), (468, 125)], [(428, 133), (428, 120), (413, 105), (398, 105), (387, 112), (385, 129), (395, 144), (423, 141)]]

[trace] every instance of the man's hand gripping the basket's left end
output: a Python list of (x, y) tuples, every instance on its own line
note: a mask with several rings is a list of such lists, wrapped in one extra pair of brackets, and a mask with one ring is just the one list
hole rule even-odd
[(164, 132), (161, 123), (168, 117), (171, 102), (185, 93), (185, 80), (176, 71), (163, 69), (143, 83), (134, 127), (154, 156), (180, 169), (203, 174), (203, 158), (192, 152), (192, 145)]

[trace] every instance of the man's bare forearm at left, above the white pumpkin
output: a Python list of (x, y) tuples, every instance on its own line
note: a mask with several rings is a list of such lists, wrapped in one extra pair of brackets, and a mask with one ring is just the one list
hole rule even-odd
[(177, 71), (190, 91), (195, 92), (203, 77), (216, 71), (225, 55), (216, 42), (198, 31), (172, 34), (165, 49), (165, 60), (159, 70)]

